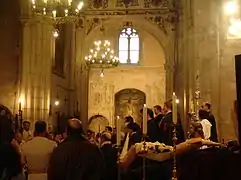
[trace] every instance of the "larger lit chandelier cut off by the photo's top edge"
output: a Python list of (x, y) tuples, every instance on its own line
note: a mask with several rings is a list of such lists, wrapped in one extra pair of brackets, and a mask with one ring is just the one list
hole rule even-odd
[(34, 14), (45, 15), (58, 23), (77, 17), (83, 6), (82, 0), (32, 0)]

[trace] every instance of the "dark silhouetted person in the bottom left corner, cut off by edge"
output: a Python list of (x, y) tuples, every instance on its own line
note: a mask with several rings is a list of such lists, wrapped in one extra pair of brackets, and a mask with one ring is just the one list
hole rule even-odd
[(18, 142), (14, 139), (12, 121), (0, 117), (0, 179), (23, 180), (23, 163)]

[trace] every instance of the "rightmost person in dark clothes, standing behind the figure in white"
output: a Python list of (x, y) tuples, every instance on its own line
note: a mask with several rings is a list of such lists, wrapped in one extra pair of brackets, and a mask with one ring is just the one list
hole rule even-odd
[(203, 109), (209, 113), (208, 121), (212, 124), (210, 140), (218, 142), (217, 126), (214, 115), (211, 112), (211, 104), (205, 103)]

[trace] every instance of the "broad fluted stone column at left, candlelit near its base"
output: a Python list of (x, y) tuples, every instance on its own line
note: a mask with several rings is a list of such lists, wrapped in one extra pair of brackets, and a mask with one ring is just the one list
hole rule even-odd
[(23, 117), (32, 122), (47, 120), (50, 106), (52, 64), (51, 22), (23, 20), (21, 82)]

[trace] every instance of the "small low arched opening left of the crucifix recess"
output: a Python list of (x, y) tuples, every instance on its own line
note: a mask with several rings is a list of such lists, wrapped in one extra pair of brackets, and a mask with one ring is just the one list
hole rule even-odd
[(95, 134), (103, 132), (108, 125), (108, 119), (100, 114), (94, 115), (89, 119), (89, 129), (94, 131)]

